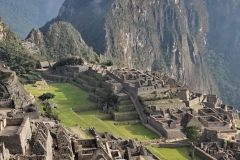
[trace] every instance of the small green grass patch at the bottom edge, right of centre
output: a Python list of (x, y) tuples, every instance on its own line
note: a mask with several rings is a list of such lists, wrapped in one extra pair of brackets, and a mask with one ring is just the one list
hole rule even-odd
[[(161, 160), (189, 160), (191, 157), (189, 156), (188, 147), (179, 147), (179, 148), (157, 148), (147, 146), (147, 148), (154, 153)], [(199, 156), (195, 155), (193, 157), (194, 160), (202, 160)]]

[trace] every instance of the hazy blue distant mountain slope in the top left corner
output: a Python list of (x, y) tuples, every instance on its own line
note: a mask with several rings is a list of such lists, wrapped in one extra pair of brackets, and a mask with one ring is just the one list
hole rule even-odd
[(21, 39), (56, 17), (64, 0), (0, 0), (0, 16)]

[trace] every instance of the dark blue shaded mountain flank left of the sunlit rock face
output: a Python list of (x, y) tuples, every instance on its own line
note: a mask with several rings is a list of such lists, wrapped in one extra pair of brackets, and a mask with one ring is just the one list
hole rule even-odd
[(106, 49), (105, 20), (114, 0), (65, 0), (56, 20), (70, 22), (97, 53)]

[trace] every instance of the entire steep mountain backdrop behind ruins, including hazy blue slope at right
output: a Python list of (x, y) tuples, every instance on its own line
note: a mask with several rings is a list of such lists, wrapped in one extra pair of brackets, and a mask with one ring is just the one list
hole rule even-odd
[(103, 59), (168, 72), (194, 91), (219, 89), (237, 104), (239, 7), (240, 0), (65, 0), (57, 20), (72, 23)]

